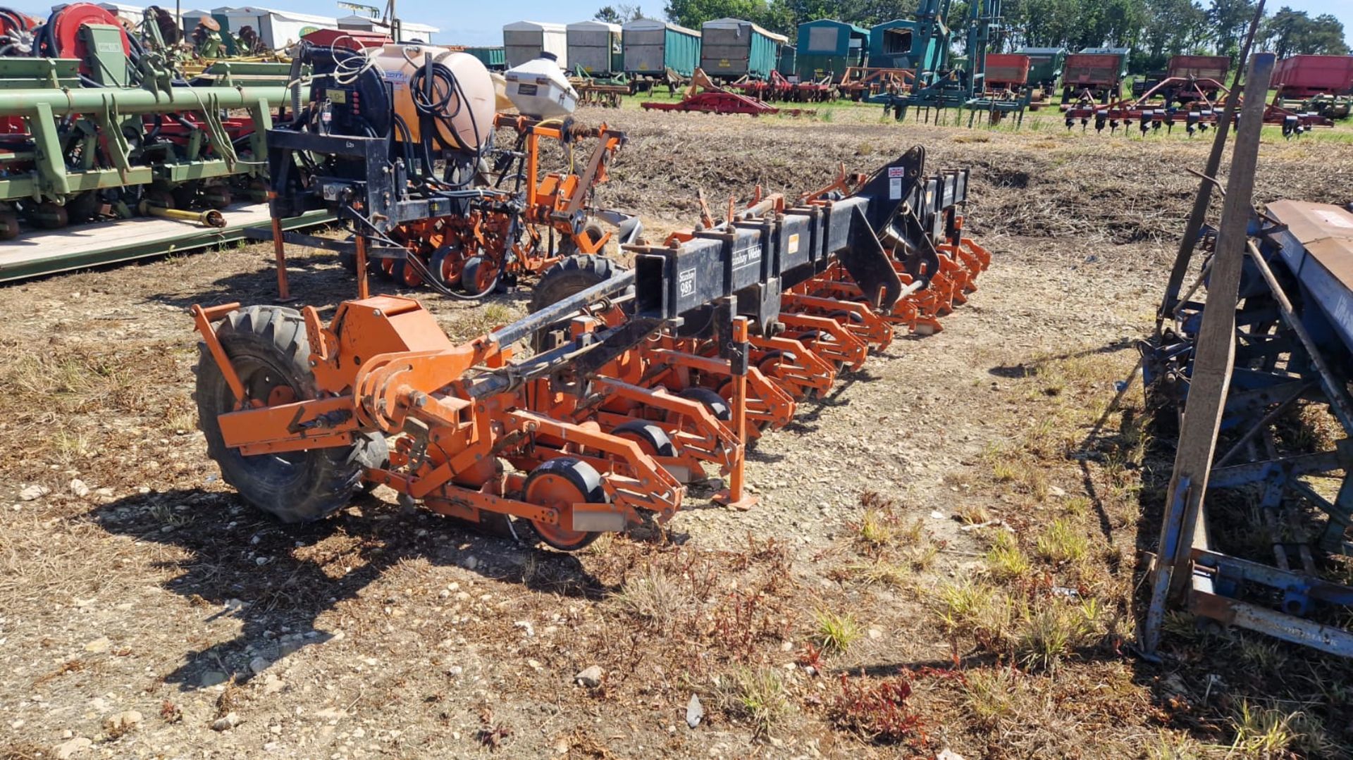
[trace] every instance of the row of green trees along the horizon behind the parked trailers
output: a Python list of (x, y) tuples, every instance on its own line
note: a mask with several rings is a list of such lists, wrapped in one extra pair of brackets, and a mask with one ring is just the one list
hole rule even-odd
[[(981, 0), (974, 0), (981, 1)], [(735, 18), (758, 23), (793, 39), (798, 24), (836, 19), (870, 27), (915, 18), (919, 0), (666, 0), (667, 20), (700, 28), (710, 19)], [(938, 0), (944, 5), (946, 0)], [(948, 24), (962, 41), (970, 7), (948, 3)], [(1239, 55), (1254, 16), (1254, 0), (1005, 0), (994, 50), (1020, 46), (1131, 47), (1132, 69), (1157, 70), (1170, 55)], [(606, 5), (597, 18), (624, 23), (643, 16), (637, 5)], [(1293, 54), (1348, 55), (1344, 24), (1330, 14), (1310, 16), (1288, 5), (1265, 14), (1260, 50)]]

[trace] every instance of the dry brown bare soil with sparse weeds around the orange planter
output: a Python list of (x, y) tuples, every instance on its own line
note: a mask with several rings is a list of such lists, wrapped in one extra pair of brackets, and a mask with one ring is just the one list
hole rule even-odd
[[(1269, 756), (1345, 752), (1337, 663), (1187, 625), (1164, 664), (1131, 655), (1160, 473), (1139, 387), (1109, 404), (1207, 142), (846, 107), (603, 116), (630, 139), (599, 203), (651, 235), (695, 220), (697, 188), (802, 191), (924, 145), (932, 169), (971, 168), (994, 262), (942, 333), (760, 441), (755, 508), (695, 487), (664, 541), (576, 556), (384, 488), (300, 527), (242, 504), (196, 430), (187, 307), (273, 299), (265, 247), (7, 287), (0, 757), (1257, 756), (1241, 740), (1281, 718)], [(1350, 168), (1353, 145), (1266, 138), (1257, 200), (1353, 201)], [(292, 264), (303, 303), (352, 295), (331, 256)], [(469, 338), (524, 314), (529, 284), (419, 295)]]

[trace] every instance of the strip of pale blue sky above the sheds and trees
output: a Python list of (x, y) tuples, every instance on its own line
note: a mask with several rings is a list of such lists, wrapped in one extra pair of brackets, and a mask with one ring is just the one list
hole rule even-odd
[[(143, 0), (122, 0), (126, 3)], [(160, 0), (170, 3), (172, 0)], [(265, 8), (281, 11), (298, 11), (325, 16), (342, 16), (350, 11), (340, 9), (333, 1), (323, 0), (254, 0)], [(367, 5), (384, 5), (382, 0), (357, 0)], [(597, 8), (607, 4), (609, 0), (517, 0), (514, 3), (479, 1), (479, 3), (448, 3), (446, 0), (396, 0), (399, 16), (410, 22), (422, 22), (441, 28), (437, 42), (460, 45), (502, 45), (502, 27), (510, 22), (579, 22), (590, 19)], [(0, 4), (14, 4), (20, 11), (27, 11), (35, 16), (46, 15), (50, 3), (34, 3), (32, 0), (0, 0)], [(245, 5), (250, 0), (204, 0), (202, 4), (192, 4), (183, 0), (187, 8), (219, 8), (222, 5)], [(150, 3), (146, 3), (150, 4)], [(647, 0), (637, 3), (644, 8), (645, 15), (660, 18), (664, 0)], [(1349, 0), (1269, 0), (1268, 12), (1291, 5), (1296, 11), (1306, 11), (1312, 16), (1319, 14), (1334, 14), (1341, 22), (1348, 39), (1353, 43), (1353, 3)]]

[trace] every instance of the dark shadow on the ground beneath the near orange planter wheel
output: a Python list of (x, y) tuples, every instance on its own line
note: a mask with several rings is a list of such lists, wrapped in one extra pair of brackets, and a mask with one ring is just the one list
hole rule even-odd
[(184, 652), (183, 664), (164, 676), (181, 690), (230, 676), (245, 682), (256, 657), (271, 663), (330, 640), (330, 632), (317, 629), (321, 615), (414, 559), (566, 596), (614, 592), (571, 554), (475, 533), (428, 511), (400, 511), (372, 496), (307, 525), (281, 525), (233, 494), (198, 488), (129, 496), (95, 508), (91, 518), (110, 533), (183, 549), (187, 557), (165, 588), (208, 621), (239, 619), (238, 636)]

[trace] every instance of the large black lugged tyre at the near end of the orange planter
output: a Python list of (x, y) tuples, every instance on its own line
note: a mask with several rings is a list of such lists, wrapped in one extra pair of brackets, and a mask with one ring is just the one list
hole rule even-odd
[[(245, 387), (246, 402), (276, 406), (317, 396), (300, 312), (275, 306), (235, 310), (216, 327), (216, 338)], [(281, 522), (314, 521), (341, 508), (361, 487), (365, 468), (388, 460), (386, 440), (376, 434), (303, 452), (245, 456), (226, 446), (216, 418), (234, 411), (235, 399), (206, 350), (198, 361), (195, 398), (207, 456), (221, 467), (221, 477)]]

